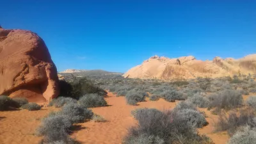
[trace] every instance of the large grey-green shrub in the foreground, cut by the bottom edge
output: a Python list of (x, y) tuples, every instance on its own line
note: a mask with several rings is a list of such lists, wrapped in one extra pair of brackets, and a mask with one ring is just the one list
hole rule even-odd
[[(132, 115), (138, 120), (138, 127), (131, 127), (124, 143), (204, 143), (195, 127), (184, 116), (173, 111), (157, 109), (136, 109)], [(148, 140), (146, 140), (148, 139)]]

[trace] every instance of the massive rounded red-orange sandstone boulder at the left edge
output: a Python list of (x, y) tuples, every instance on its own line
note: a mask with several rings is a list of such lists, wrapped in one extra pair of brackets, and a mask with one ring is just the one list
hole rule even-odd
[(47, 102), (59, 93), (49, 51), (36, 33), (0, 28), (0, 95)]

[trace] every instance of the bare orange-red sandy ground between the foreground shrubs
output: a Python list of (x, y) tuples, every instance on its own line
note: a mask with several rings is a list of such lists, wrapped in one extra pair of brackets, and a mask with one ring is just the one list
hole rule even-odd
[[(115, 97), (112, 93), (106, 98), (108, 107), (93, 108), (93, 112), (103, 116), (108, 120), (104, 123), (86, 122), (79, 124), (72, 138), (81, 143), (122, 143), (127, 129), (136, 125), (136, 120), (132, 118), (131, 111), (136, 108), (157, 108), (160, 110), (174, 108), (177, 102), (166, 102), (163, 99), (158, 101), (139, 102), (139, 106), (129, 106), (125, 103), (125, 97)], [(35, 136), (35, 130), (40, 125), (40, 119), (56, 108), (45, 108), (40, 111), (1, 111), (0, 112), (0, 143), (6, 144), (29, 144), (38, 143), (40, 137)], [(199, 129), (200, 134), (207, 134), (217, 144), (226, 143), (228, 135), (226, 132), (213, 133), (214, 120), (218, 116), (212, 115), (207, 109), (209, 125)]]

